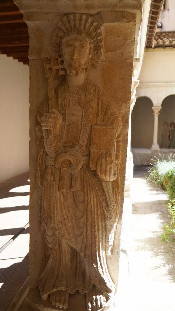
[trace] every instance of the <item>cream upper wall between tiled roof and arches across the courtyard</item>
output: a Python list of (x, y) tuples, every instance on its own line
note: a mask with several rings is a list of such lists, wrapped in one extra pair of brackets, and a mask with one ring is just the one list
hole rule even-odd
[(146, 49), (140, 83), (175, 82), (175, 49)]

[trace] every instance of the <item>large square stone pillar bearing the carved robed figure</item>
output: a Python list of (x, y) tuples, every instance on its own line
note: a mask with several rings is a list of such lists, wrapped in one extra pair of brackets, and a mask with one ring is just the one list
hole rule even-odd
[[(90, 292), (93, 291), (91, 296), (99, 296), (96, 286), (98, 283), (101, 289), (100, 296), (106, 295), (106, 298), (104, 297), (106, 303), (104, 307), (96, 305), (96, 308), (112, 311), (116, 306), (133, 53), (136, 50), (141, 23), (141, 1), (131, 0), (130, 4), (127, 4), (128, 2), (113, 0), (110, 2), (105, 0), (102, 3), (90, 0), (67, 2), (15, 0), (15, 3), (23, 13), (30, 36), (30, 281), (26, 302), (19, 310), (26, 311), (27, 304), (35, 310), (62, 310), (62, 300), (68, 300), (69, 296), (68, 311), (87, 311), (87, 298), (92, 300)], [(71, 36), (74, 36), (75, 42)], [(81, 38), (77, 39), (77, 36)], [(83, 44), (78, 45), (77, 40), (83, 40)], [(61, 56), (55, 50), (58, 54), (61, 53)], [(66, 61), (70, 53), (73, 53), (72, 66), (67, 66)], [(75, 90), (79, 72), (82, 73), (83, 68), (76, 67), (77, 71), (73, 73), (68, 70), (70, 69), (68, 67), (76, 66), (79, 53), (82, 62), (84, 57), (90, 55), (90, 61), (87, 58), (88, 62), (84, 65), (88, 67), (91, 64), (91, 67), (86, 72), (87, 80), (82, 80), (78, 85), (79, 88)], [(51, 56), (53, 56), (52, 64), (49, 65), (46, 60), (44, 67), (44, 58), (50, 59)], [(49, 90), (45, 69), (47, 78), (55, 69), (60, 73), (59, 76), (54, 77), (55, 81), (50, 78)], [(64, 75), (67, 82), (64, 80)], [(73, 75), (74, 80), (72, 80)], [(81, 77), (83, 79), (84, 76)], [(69, 100), (69, 96), (73, 98)], [(61, 135), (67, 131), (66, 144), (69, 142), (71, 145), (79, 126), (72, 125), (72, 131), (65, 126), (66, 129), (62, 131), (67, 122), (65, 114), (70, 118), (70, 111), (72, 111), (69, 107), (69, 113), (67, 112), (69, 103), (70, 107), (79, 107), (79, 110), (74, 108), (75, 113), (71, 114), (72, 118), (81, 116), (81, 105), (84, 104), (86, 107), (82, 116), (81, 144), (60, 153)], [(53, 111), (50, 107), (56, 109)], [(101, 126), (101, 130), (97, 127), (96, 131), (95, 125)], [(103, 125), (109, 130), (106, 136)], [(98, 157), (95, 158), (97, 148), (94, 148), (94, 145), (101, 148), (99, 149), (101, 152), (101, 140), (103, 140), (102, 145), (110, 146), (109, 142), (112, 139), (117, 144), (116, 151), (115, 148), (110, 147), (110, 153), (112, 157), (116, 156), (116, 162), (113, 163), (115, 165), (110, 164), (111, 173), (108, 172), (105, 177), (101, 174), (101, 170), (103, 162), (110, 161), (110, 156), (105, 156), (104, 161), (104, 155), (98, 153)], [(89, 147), (90, 143), (91, 147)], [(87, 146), (89, 149), (83, 149)], [(105, 152), (109, 150), (107, 148), (109, 147), (104, 149)], [(70, 162), (74, 170), (71, 170)], [(48, 171), (45, 165), (49, 167)], [(82, 178), (84, 178), (83, 182)], [(72, 192), (66, 192), (65, 195), (66, 187), (71, 187)], [(82, 187), (84, 193), (81, 192)], [(94, 195), (94, 189), (97, 190), (98, 195), (97, 193)], [(59, 191), (63, 191), (60, 196)], [(78, 194), (76, 191), (80, 191), (79, 197), (76, 196)], [(113, 195), (116, 201), (113, 201)], [(80, 206), (79, 209), (77, 205)], [(51, 212), (48, 207), (52, 208)], [(65, 208), (68, 207), (70, 213), (65, 214)], [(68, 218), (69, 223), (67, 223)], [(116, 223), (117, 226), (111, 231), (114, 220), (113, 228)], [(76, 225), (79, 224), (79, 231), (74, 230), (74, 222)], [(93, 242), (90, 241), (91, 235)], [(97, 248), (95, 243), (98, 244)], [(98, 257), (97, 262), (94, 261), (94, 256), (96, 259)], [(72, 282), (69, 282), (69, 277), (72, 278)], [(68, 283), (70, 284), (66, 287)], [(109, 293), (106, 292), (106, 287), (109, 288)], [(57, 292), (62, 295), (60, 300)], [(101, 300), (99, 303), (103, 304), (103, 302)], [(64, 306), (67, 307), (67, 302)], [(89, 310), (92, 310), (92, 305)]]

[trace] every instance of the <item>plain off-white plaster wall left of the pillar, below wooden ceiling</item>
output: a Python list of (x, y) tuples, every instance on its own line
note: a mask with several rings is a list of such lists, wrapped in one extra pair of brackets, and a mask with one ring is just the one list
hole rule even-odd
[(29, 170), (29, 67), (0, 55), (0, 181)]

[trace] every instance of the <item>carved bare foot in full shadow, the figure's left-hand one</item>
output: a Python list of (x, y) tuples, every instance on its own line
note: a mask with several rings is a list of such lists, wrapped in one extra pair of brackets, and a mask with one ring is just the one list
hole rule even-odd
[(69, 304), (69, 293), (64, 290), (56, 290), (50, 294), (50, 302), (55, 307), (66, 309)]

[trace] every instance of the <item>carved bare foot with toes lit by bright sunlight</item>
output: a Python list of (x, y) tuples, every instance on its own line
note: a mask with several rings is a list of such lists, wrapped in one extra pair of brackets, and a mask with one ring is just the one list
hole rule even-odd
[(86, 307), (87, 311), (95, 311), (102, 309), (105, 306), (106, 298), (105, 295), (96, 289), (95, 286), (86, 293)]

